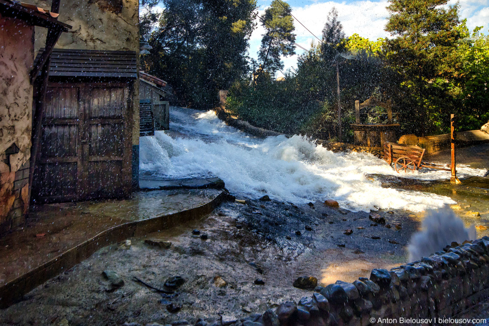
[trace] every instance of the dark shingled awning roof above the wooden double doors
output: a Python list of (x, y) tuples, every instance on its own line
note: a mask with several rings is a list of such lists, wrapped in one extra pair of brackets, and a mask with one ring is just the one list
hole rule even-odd
[(136, 52), (53, 49), (49, 76), (137, 78)]

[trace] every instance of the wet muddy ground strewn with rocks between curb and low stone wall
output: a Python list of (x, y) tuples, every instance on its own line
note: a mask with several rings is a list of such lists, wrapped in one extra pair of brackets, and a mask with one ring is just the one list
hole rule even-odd
[[(369, 213), (321, 202), (301, 207), (249, 199), (247, 204), (227, 202), (200, 221), (130, 239), (129, 249), (105, 247), (0, 311), (0, 324), (144, 325), (180, 319), (194, 323), (221, 315), (243, 318), (310, 295), (292, 286), (297, 277), (311, 275), (325, 285), (405, 262), (404, 247), (419, 222), (407, 211), (377, 213), (385, 224), (371, 221)], [(344, 234), (347, 230), (352, 233)], [(160, 248), (145, 239), (172, 244)], [(111, 286), (104, 270), (115, 271), (124, 285)], [(174, 276), (185, 282), (172, 294), (133, 281), (137, 277), (162, 289)], [(225, 286), (216, 285), (218, 277)]]

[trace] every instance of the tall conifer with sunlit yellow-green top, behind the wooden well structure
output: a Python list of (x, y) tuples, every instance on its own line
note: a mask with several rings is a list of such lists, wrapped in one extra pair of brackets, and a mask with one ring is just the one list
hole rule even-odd
[(390, 0), (387, 7), (385, 30), (395, 36), (386, 42), (387, 59), (405, 77), (398, 99), (404, 127), (420, 135), (440, 132), (454, 110), (447, 89), (434, 83), (453, 76), (444, 65), (461, 37), (459, 6), (445, 5), (447, 0)]

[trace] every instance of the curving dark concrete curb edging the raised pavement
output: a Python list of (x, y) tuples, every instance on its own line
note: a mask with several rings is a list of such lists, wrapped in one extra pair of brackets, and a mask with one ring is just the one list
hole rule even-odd
[(181, 223), (200, 218), (220, 205), (226, 194), (224, 191), (210, 202), (191, 209), (183, 210), (169, 215), (156, 216), (154, 218), (124, 223), (104, 230), (77, 246), (65, 251), (56, 258), (31, 269), (27, 273), (7, 282), (0, 287), (0, 309), (5, 309), (18, 302), (22, 296), (38, 285), (70, 269), (76, 264), (89, 258), (97, 250), (123, 241), (133, 236), (141, 236), (159, 230), (169, 229)]

